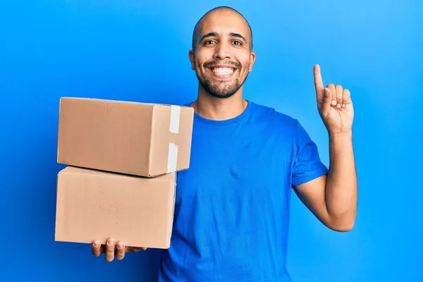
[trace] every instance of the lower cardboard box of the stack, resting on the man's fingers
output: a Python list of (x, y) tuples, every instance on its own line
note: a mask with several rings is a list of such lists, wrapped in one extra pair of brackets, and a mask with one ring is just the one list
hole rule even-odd
[(170, 246), (176, 173), (157, 178), (68, 166), (57, 176), (55, 240)]

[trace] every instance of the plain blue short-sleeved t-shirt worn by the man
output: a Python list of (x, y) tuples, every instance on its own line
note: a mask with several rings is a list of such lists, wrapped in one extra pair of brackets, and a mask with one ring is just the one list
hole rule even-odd
[(226, 121), (195, 114), (159, 281), (290, 281), (292, 185), (327, 171), (300, 123), (274, 109), (248, 102)]

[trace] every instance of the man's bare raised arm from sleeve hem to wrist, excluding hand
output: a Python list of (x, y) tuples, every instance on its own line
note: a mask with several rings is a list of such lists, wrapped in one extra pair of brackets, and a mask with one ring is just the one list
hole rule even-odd
[(350, 231), (357, 214), (357, 175), (351, 133), (329, 135), (329, 172), (296, 185), (295, 193), (325, 226)]

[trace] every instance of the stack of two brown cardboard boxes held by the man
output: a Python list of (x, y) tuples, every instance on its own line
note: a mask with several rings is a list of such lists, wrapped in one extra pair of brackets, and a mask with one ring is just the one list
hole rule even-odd
[(170, 247), (193, 116), (186, 106), (62, 97), (55, 240)]

